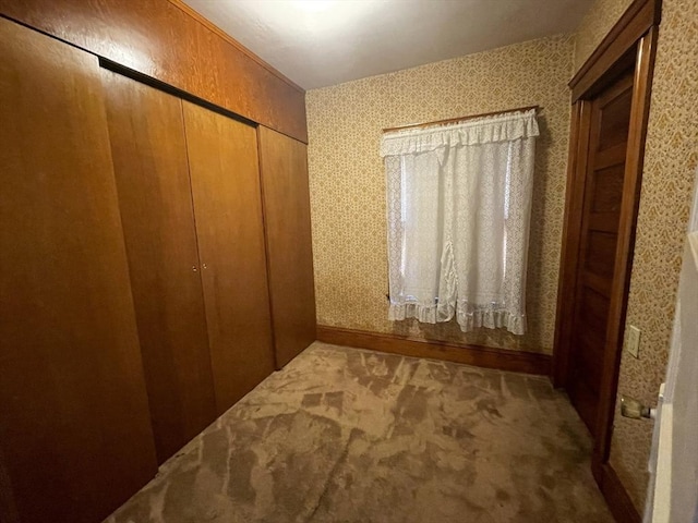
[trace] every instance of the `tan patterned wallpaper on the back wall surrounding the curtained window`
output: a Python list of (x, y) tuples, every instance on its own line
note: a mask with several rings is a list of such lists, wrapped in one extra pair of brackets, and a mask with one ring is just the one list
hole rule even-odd
[[(556, 36), (306, 94), (317, 321), (551, 353), (564, 207), (573, 38)], [(382, 130), (539, 105), (529, 333), (387, 320)]]

